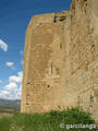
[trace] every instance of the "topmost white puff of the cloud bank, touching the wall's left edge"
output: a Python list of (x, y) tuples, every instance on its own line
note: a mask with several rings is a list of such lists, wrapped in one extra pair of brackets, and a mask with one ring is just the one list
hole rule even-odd
[(15, 83), (22, 83), (22, 79), (23, 79), (23, 72), (19, 72), (19, 75), (12, 75), (9, 78), (9, 82), (15, 82)]

